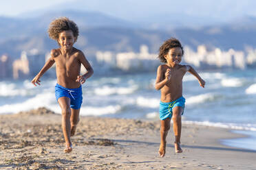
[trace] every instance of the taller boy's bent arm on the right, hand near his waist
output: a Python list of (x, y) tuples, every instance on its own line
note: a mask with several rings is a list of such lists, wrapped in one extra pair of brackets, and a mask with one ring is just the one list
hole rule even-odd
[(84, 75), (78, 75), (76, 82), (81, 82), (81, 84), (83, 84), (87, 78), (91, 77), (92, 74), (94, 73), (94, 69), (92, 69), (92, 66), (89, 64), (89, 62), (86, 60), (85, 55), (83, 54), (83, 52), (79, 53), (78, 56), (80, 62), (83, 64), (83, 66), (85, 66), (86, 69), (86, 73)]

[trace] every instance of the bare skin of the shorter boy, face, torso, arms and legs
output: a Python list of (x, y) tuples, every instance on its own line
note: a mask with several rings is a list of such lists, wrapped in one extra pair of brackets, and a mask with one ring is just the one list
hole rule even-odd
[[(166, 64), (158, 66), (156, 76), (156, 90), (161, 90), (161, 101), (164, 103), (175, 101), (182, 97), (182, 79), (185, 73), (188, 71), (194, 75), (200, 84), (204, 88), (204, 80), (198, 75), (198, 73), (189, 65), (180, 64), (182, 60), (182, 49), (180, 47), (173, 47), (169, 49), (167, 56), (164, 56), (167, 60)], [(176, 106), (173, 108), (173, 132), (175, 135), (175, 152), (181, 153), (182, 148), (180, 147), (180, 135), (182, 130), (182, 112), (183, 108)], [(160, 128), (160, 147), (158, 153), (161, 157), (166, 152), (166, 138), (168, 131), (171, 127), (171, 119), (167, 118), (161, 120)]]

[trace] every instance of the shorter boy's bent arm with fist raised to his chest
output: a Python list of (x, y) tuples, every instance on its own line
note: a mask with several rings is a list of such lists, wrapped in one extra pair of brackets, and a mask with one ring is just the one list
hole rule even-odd
[(170, 80), (171, 80), (170, 69), (167, 69), (164, 77), (162, 65), (158, 66), (158, 72), (156, 75), (156, 85), (155, 85), (156, 90), (160, 90), (165, 84), (170, 82)]

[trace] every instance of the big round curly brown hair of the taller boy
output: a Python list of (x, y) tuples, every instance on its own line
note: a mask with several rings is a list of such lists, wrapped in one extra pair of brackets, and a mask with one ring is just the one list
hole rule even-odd
[(76, 23), (74, 23), (74, 21), (71, 21), (67, 17), (60, 17), (52, 21), (52, 23), (50, 23), (48, 34), (50, 38), (58, 40), (58, 35), (61, 32), (67, 30), (72, 30), (76, 40), (79, 35), (78, 26), (76, 25)]

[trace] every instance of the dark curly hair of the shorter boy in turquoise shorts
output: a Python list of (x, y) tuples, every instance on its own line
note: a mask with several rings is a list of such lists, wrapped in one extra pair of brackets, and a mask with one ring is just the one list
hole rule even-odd
[(159, 48), (158, 58), (160, 59), (161, 62), (167, 63), (167, 60), (164, 58), (164, 56), (167, 56), (167, 54), (169, 53), (169, 50), (174, 47), (180, 47), (180, 49), (182, 49), (182, 55), (183, 55), (184, 51), (180, 43), (180, 40), (176, 38), (170, 38), (169, 40), (164, 41), (164, 43)]

